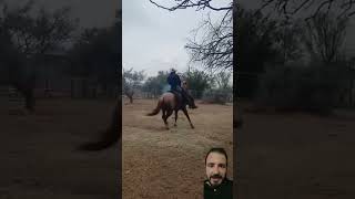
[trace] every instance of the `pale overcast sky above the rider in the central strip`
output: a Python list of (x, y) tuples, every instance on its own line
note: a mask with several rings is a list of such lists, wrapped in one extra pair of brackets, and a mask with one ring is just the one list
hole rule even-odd
[[(163, 6), (173, 0), (159, 1)], [(232, 0), (216, 0), (227, 6)], [(149, 76), (171, 67), (187, 70), (189, 54), (184, 49), (192, 30), (197, 28), (210, 10), (184, 9), (170, 12), (149, 0), (122, 2), (122, 62), (123, 69), (144, 70)], [(212, 20), (223, 12), (211, 12)]]

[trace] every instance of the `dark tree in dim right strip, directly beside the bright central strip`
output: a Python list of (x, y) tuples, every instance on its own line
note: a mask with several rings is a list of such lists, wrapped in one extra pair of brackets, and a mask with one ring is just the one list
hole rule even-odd
[[(261, 11), (239, 7), (234, 11), (234, 41), (239, 57), (234, 61), (237, 70), (239, 95), (252, 97), (257, 88), (257, 75), (267, 63), (282, 62), (280, 50), (281, 33), (277, 21), (268, 19)], [(237, 22), (237, 23), (236, 23)], [(278, 44), (277, 44), (278, 43)]]

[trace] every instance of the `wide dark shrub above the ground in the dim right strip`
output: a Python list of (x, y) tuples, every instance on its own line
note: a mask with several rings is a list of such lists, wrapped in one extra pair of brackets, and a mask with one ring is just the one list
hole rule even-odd
[(329, 114), (344, 88), (344, 64), (311, 63), (268, 67), (260, 77), (255, 101), (277, 111)]

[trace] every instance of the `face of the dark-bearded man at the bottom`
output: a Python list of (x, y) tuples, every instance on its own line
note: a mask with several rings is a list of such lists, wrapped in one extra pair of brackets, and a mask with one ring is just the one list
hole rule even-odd
[(206, 175), (211, 186), (219, 186), (226, 175), (226, 158), (220, 153), (210, 153), (206, 159)]

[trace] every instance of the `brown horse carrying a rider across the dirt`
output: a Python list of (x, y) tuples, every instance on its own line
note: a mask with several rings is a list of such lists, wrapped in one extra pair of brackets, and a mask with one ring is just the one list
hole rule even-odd
[(187, 114), (186, 105), (189, 104), (190, 108), (197, 108), (197, 106), (194, 103), (194, 100), (187, 95), (189, 103), (185, 102), (181, 94), (174, 94), (171, 92), (164, 93), (158, 101), (158, 106), (155, 109), (153, 109), (151, 113), (146, 114), (148, 116), (153, 116), (159, 114), (159, 112), (162, 109), (162, 119), (165, 124), (166, 129), (169, 129), (168, 125), (168, 118), (175, 112), (175, 123), (174, 126), (176, 126), (176, 119), (178, 119), (178, 112), (181, 109), (185, 116), (189, 119), (191, 128), (194, 128), (193, 124), (191, 123), (190, 116)]

